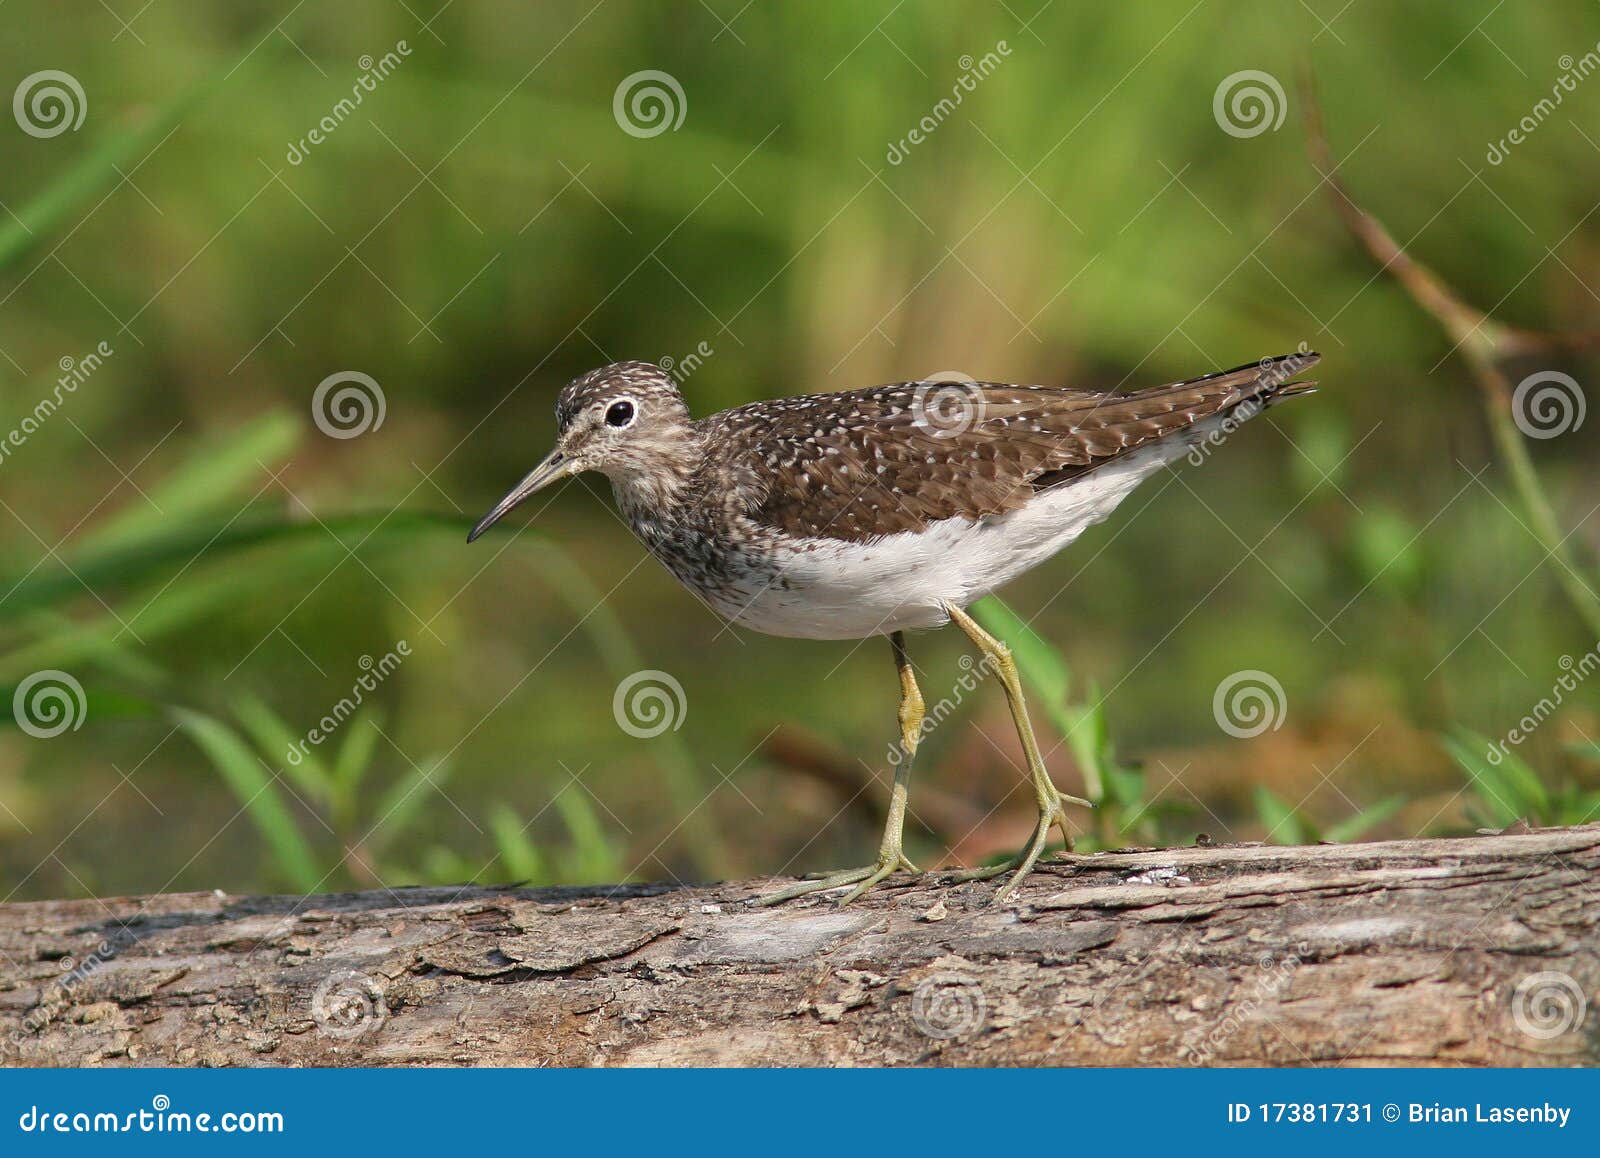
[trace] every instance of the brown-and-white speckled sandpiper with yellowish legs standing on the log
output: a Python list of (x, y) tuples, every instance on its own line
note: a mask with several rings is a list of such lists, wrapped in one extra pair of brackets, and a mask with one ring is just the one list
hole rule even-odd
[(472, 528), (475, 541), (557, 480), (598, 472), (645, 549), (736, 625), (811, 640), (888, 637), (899, 677), (901, 758), (874, 864), (813, 873), (760, 897), (779, 904), (848, 888), (850, 904), (896, 872), (910, 768), (926, 715), (907, 632), (955, 624), (998, 677), (1027, 761), (1032, 838), (998, 865), (1006, 902), (1053, 829), (1072, 848), (1064, 795), (1029, 723), (1016, 661), (970, 614), (1038, 566), (1178, 457), (1210, 454), (1237, 425), (1315, 382), (1320, 355), (1261, 358), (1141, 390), (1082, 390), (970, 379), (755, 401), (693, 417), (672, 374), (618, 361), (568, 382), (555, 448)]

